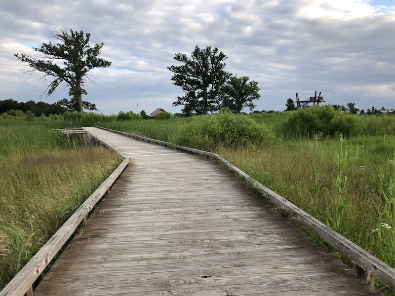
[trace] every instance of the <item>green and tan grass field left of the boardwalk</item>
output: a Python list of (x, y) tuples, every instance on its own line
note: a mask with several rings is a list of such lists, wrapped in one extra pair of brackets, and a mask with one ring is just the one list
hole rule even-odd
[(66, 125), (0, 119), (0, 290), (120, 163), (48, 131)]

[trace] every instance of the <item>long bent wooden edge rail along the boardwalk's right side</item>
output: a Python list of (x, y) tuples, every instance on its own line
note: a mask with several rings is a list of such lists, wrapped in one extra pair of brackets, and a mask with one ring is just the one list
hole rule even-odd
[[(135, 139), (164, 145), (166, 147), (175, 148), (178, 150), (184, 150), (192, 152), (198, 155), (206, 156), (207, 158), (212, 158), (219, 163), (230, 169), (237, 177), (243, 180), (247, 185), (252, 188), (257, 189), (263, 196), (268, 198), (273, 202), (280, 210), (287, 213), (289, 216), (294, 217), (298, 222), (307, 227), (310, 231), (316, 233), (321, 239), (327, 242), (332, 247), (336, 248), (341, 254), (350, 259), (354, 264), (359, 266), (364, 272), (370, 272), (372, 276), (377, 278), (382, 284), (388, 285), (393, 291), (395, 291), (395, 269), (381, 261), (380, 259), (374, 257), (366, 250), (362, 249), (349, 239), (345, 238), (340, 233), (334, 231), (332, 228), (328, 227), (324, 223), (318, 221), (316, 218), (306, 213), (302, 209), (298, 208), (296, 205), (286, 200), (282, 196), (278, 195), (273, 190), (269, 189), (265, 185), (259, 183), (242, 170), (237, 168), (235, 165), (230, 163), (228, 160), (222, 156), (207, 152), (199, 149), (189, 148), (174, 145), (169, 142), (159, 141), (147, 137), (142, 137), (134, 134), (129, 134), (125, 132), (120, 132), (112, 130), (109, 128), (104, 128), (100, 126), (95, 126), (97, 128), (107, 130), (110, 132), (118, 133), (124, 136), (132, 137)], [(2, 295), (0, 295), (2, 296)]]

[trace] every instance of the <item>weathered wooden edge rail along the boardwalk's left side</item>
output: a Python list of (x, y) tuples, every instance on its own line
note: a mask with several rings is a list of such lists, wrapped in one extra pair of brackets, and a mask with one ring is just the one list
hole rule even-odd
[(81, 204), (76, 212), (40, 248), (39, 252), (12, 278), (0, 292), (0, 296), (33, 296), (33, 284), (39, 278), (42, 271), (48, 266), (63, 245), (74, 234), (79, 224), (110, 190), (110, 187), (128, 166), (129, 158), (123, 158), (123, 161), (115, 171)]

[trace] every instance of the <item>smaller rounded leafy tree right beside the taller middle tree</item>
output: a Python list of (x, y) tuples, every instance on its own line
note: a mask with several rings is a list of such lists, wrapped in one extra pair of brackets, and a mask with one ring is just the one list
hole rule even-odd
[(234, 113), (240, 113), (245, 107), (253, 111), (253, 101), (259, 100), (259, 86), (256, 81), (248, 81), (247, 76), (232, 76), (222, 88), (223, 106)]

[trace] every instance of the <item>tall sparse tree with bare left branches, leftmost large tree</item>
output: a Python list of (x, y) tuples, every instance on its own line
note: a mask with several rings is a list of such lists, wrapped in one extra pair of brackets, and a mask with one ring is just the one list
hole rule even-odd
[(103, 42), (95, 45), (89, 44), (90, 34), (83, 31), (55, 28), (52, 36), (60, 41), (53, 44), (51, 41), (42, 43), (40, 47), (33, 49), (40, 52), (42, 56), (36, 58), (25, 53), (15, 54), (17, 60), (32, 68), (30, 73), (43, 73), (40, 80), (45, 81), (50, 78), (52, 81), (46, 88), (47, 95), (50, 96), (55, 89), (65, 83), (70, 87), (70, 92), (77, 101), (77, 111), (83, 111), (82, 93), (86, 80), (91, 80), (89, 72), (94, 68), (110, 67), (111, 62), (98, 58), (103, 47)]

